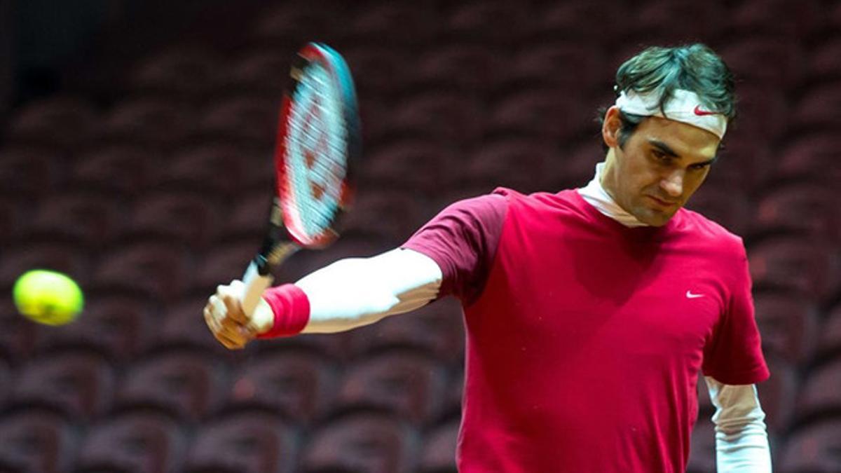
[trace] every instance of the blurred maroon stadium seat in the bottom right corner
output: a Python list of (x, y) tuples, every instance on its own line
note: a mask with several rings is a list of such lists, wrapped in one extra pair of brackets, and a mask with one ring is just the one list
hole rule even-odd
[(827, 417), (792, 432), (775, 470), (780, 473), (830, 473), (838, 471), (841, 419)]

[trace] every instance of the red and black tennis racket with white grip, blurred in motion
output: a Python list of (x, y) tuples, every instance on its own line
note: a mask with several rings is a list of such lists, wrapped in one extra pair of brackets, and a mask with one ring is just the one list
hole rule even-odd
[(242, 309), (251, 316), (272, 285), (272, 268), (300, 248), (323, 248), (351, 202), (352, 169), (362, 151), (353, 79), (329, 46), (299, 50), (283, 94), (275, 145), (275, 195), (269, 226), (242, 280)]

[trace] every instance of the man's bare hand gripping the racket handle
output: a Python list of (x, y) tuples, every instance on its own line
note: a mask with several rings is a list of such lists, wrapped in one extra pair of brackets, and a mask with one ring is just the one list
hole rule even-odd
[[(271, 308), (264, 300), (257, 306), (254, 314), (246, 316), (242, 311), (241, 299), (245, 292), (242, 281), (231, 281), (228, 285), (216, 288), (204, 306), (204, 322), (210, 332), (231, 350), (245, 348), (257, 335), (271, 328)], [(266, 314), (268, 311), (268, 315)]]

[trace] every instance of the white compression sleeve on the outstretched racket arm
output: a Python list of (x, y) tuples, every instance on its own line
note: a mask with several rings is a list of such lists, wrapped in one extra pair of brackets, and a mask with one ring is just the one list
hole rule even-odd
[(425, 306), (442, 277), (432, 258), (408, 249), (336, 261), (295, 283), (309, 299), (304, 333), (350, 330)]

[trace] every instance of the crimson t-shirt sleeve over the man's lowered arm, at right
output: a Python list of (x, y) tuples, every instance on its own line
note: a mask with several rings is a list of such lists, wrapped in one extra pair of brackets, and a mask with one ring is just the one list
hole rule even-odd
[(754, 318), (754, 298), (748, 257), (739, 244), (737, 271), (731, 279), (727, 311), (722, 315), (704, 353), (704, 375), (727, 385), (749, 385), (767, 380), (770, 373), (762, 354)]

